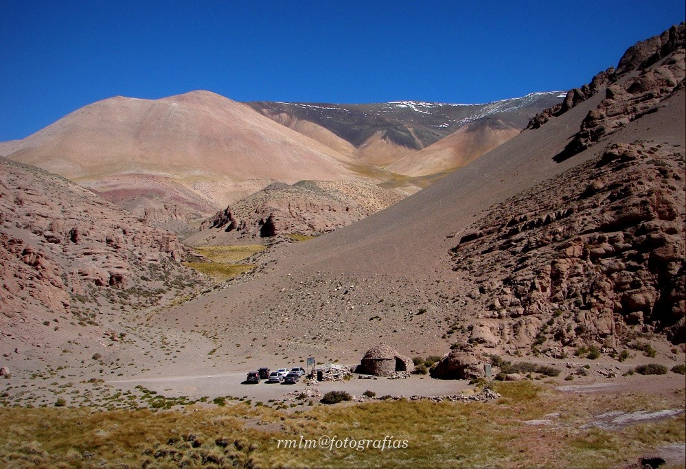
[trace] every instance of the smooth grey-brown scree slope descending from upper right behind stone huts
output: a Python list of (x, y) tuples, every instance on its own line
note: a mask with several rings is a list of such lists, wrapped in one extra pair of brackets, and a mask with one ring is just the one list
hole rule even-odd
[[(667, 55), (645, 65), (639, 75), (650, 82), (653, 76), (674, 72), (663, 92), (646, 91), (637, 84), (636, 73), (612, 76), (597, 93), (577, 100), (537, 130), (521, 133), (428, 189), (350, 227), (279, 248), (275, 260), (254, 275), (181, 306), (165, 321), (195, 321), (190, 318), (201, 314), (205, 327), (243, 331), (220, 347), (229, 360), (238, 359), (237, 350), (244, 347), (254, 356), (254, 345), (265, 353), (345, 358), (381, 339), (406, 354), (446, 352), (457, 339), (469, 338), (467, 330), (446, 334), (453, 325), (486, 314), (473, 296), (479, 297), (479, 285), (453, 271), (450, 250), (459, 242), (455, 233), (466, 231), (492, 205), (537, 184), (557, 184), (571, 196), (576, 185), (568, 187), (566, 179), (553, 178), (602, 157), (610, 145), (657, 141), (674, 155), (686, 144), (684, 92), (679, 87), (683, 49)], [(609, 101), (607, 89), (615, 97)], [(652, 93), (651, 98), (645, 93)], [(627, 103), (634, 107), (627, 108)], [(649, 108), (652, 111), (646, 112)], [(598, 109), (609, 111), (601, 114)], [(629, 109), (629, 114), (613, 117), (613, 109)], [(585, 149), (569, 152), (570, 142), (585, 135), (589, 113), (608, 117), (610, 124), (595, 140), (586, 139)], [(545, 301), (554, 300), (547, 296)], [(212, 314), (203, 314), (205, 310)], [(547, 321), (549, 313), (539, 313), (538, 321)], [(617, 321), (626, 324), (621, 317)], [(529, 336), (522, 345), (530, 346), (533, 339)]]

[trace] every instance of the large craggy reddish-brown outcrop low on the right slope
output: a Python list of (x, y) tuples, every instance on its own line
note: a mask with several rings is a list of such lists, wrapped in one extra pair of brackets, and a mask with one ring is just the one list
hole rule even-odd
[(615, 345), (638, 328), (683, 342), (684, 159), (658, 143), (613, 145), (462, 233), (455, 270), (475, 278), (488, 311), (472, 341)]

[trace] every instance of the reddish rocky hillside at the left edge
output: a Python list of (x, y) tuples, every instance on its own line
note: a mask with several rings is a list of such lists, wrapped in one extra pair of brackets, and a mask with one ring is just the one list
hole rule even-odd
[(202, 282), (181, 265), (183, 256), (172, 233), (55, 174), (0, 159), (0, 325), (94, 323), (89, 308), (115, 308), (119, 297), (155, 304), (168, 288)]

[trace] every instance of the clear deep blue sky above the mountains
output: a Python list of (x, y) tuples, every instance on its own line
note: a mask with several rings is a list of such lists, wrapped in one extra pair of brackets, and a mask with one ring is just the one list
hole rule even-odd
[(0, 141), (104, 98), (474, 103), (579, 87), (683, 0), (0, 0)]

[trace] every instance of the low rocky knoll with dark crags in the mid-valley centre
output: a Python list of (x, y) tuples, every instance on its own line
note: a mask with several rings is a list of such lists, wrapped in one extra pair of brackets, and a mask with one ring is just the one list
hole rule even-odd
[(274, 183), (205, 220), (201, 233), (186, 242), (203, 244), (213, 236), (218, 242), (216, 237), (226, 233), (237, 238), (293, 233), (316, 236), (350, 225), (402, 198), (400, 192), (354, 181)]

